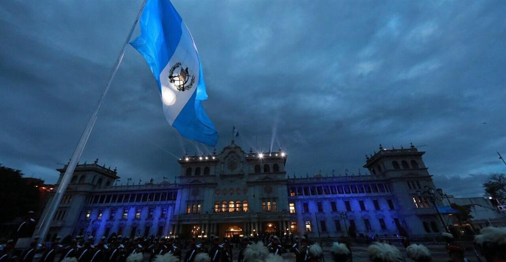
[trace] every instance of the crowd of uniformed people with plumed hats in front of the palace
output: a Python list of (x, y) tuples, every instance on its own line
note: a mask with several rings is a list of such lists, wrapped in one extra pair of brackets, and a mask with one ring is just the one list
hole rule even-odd
[[(453, 243), (451, 234), (443, 233), (449, 261), (467, 262), (466, 249)], [(143, 238), (105, 237), (98, 241), (93, 237), (76, 236), (69, 244), (61, 244), (57, 237), (50, 244), (40, 245), (33, 239), (30, 247), (21, 253), (14, 252), (14, 241), (0, 246), (0, 262), (283, 262), (285, 252), (292, 252), (296, 262), (324, 262), (324, 252), (319, 243), (303, 237), (290, 241), (270, 234), (262, 237), (243, 237), (232, 241), (218, 237), (192, 238), (177, 237)], [(239, 247), (237, 259), (234, 259), (234, 244)], [(506, 228), (488, 227), (475, 237), (476, 252), (481, 252), (487, 262), (506, 262)], [(183, 253), (182, 250), (185, 250)], [(367, 252), (373, 262), (405, 261), (400, 249), (386, 242), (374, 242)], [(334, 242), (329, 248), (334, 262), (352, 262), (353, 252), (350, 242)], [(429, 249), (422, 244), (406, 246), (406, 255), (415, 262), (432, 260)], [(328, 256), (327, 256), (328, 257)], [(476, 258), (482, 262), (477, 254)]]

